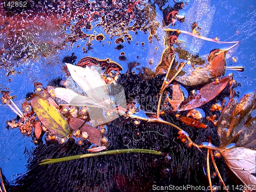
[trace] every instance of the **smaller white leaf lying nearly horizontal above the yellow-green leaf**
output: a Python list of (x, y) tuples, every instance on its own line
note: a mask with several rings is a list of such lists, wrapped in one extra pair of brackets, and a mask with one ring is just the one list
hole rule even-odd
[(55, 88), (54, 90), (55, 90), (55, 97), (66, 101), (67, 103), (69, 103), (69, 105), (85, 106), (88, 104), (91, 104), (91, 105), (97, 104), (97, 102), (94, 99), (89, 98), (85, 95), (80, 95), (71, 89)]

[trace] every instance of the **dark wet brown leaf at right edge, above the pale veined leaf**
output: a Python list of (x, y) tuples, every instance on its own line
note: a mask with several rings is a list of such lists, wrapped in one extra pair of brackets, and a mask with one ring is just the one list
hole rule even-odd
[[(247, 94), (241, 98), (240, 103), (232, 99), (223, 109), (217, 125), (221, 146), (236, 140), (236, 146), (249, 147), (256, 150), (256, 117), (251, 117), (251, 112), (254, 109), (254, 100), (253, 93)], [(236, 138), (237, 134), (238, 138)]]

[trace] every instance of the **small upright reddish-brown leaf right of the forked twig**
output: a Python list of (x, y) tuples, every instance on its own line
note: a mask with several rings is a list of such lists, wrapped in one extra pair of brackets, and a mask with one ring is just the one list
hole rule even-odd
[(173, 111), (177, 111), (182, 101), (184, 101), (184, 95), (179, 84), (173, 84), (173, 99), (170, 99), (168, 95), (167, 99), (170, 105), (172, 105)]

